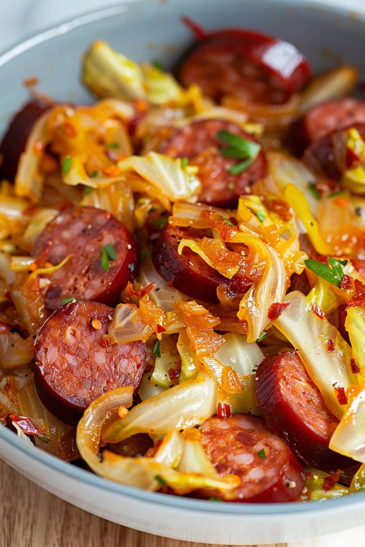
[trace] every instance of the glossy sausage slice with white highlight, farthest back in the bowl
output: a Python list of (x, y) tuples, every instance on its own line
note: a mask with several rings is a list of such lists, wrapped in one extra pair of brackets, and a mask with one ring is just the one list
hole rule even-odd
[(249, 102), (282, 104), (311, 73), (292, 44), (266, 34), (227, 29), (202, 36), (179, 68), (183, 85), (198, 84), (216, 101), (223, 95)]

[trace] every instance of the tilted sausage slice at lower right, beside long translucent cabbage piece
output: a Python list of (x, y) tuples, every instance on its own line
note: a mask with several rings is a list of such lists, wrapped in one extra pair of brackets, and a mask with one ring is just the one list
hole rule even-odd
[(325, 471), (354, 465), (352, 459), (328, 448), (338, 420), (296, 352), (265, 357), (255, 387), (266, 423), (306, 464)]

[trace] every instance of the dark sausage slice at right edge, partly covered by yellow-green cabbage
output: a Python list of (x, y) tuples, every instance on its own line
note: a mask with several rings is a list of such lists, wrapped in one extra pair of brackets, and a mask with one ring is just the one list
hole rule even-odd
[[(365, 104), (365, 103), (364, 103)], [(354, 124), (361, 138), (365, 139), (365, 124)], [(334, 139), (337, 132), (312, 142), (303, 154), (305, 164), (318, 176), (327, 177), (332, 181), (340, 181), (343, 171), (336, 162)]]

